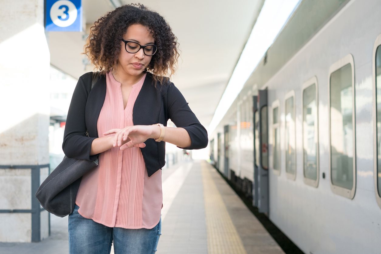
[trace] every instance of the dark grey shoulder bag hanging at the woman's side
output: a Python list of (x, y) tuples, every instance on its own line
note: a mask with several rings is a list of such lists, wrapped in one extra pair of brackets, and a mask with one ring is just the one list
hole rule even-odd
[[(93, 72), (91, 89), (98, 80), (100, 72)], [(90, 90), (91, 91), (91, 90)], [(88, 133), (86, 131), (86, 136)], [(36, 198), (46, 211), (65, 217), (74, 211), (82, 176), (98, 166), (98, 158), (94, 161), (67, 158), (53, 170), (36, 192)]]

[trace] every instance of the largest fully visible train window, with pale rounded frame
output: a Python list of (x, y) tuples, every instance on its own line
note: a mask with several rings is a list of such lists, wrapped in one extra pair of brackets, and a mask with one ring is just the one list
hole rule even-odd
[(333, 192), (354, 197), (355, 124), (352, 55), (332, 65), (330, 74), (330, 175)]

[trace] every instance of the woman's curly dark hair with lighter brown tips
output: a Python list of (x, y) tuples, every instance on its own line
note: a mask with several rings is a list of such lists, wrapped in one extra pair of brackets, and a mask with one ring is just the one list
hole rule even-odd
[[(120, 38), (127, 28), (141, 24), (149, 28), (157, 45), (157, 52), (145, 71), (153, 73), (153, 82), (163, 83), (166, 75), (172, 76), (179, 58), (177, 37), (160, 14), (148, 10), (142, 4), (123, 5), (94, 22), (84, 46), (84, 53), (101, 74), (109, 72), (117, 64)], [(168, 72), (170, 70), (170, 73)]]

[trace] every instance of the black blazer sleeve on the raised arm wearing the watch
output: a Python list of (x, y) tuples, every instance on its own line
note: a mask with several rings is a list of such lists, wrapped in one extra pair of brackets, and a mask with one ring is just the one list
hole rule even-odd
[(179, 148), (190, 150), (207, 147), (207, 130), (201, 125), (200, 121), (189, 108), (184, 96), (182, 96), (179, 89), (173, 83), (168, 85), (166, 97), (168, 118), (173, 121), (176, 127), (186, 129), (189, 137), (191, 137), (191, 145), (189, 147)]

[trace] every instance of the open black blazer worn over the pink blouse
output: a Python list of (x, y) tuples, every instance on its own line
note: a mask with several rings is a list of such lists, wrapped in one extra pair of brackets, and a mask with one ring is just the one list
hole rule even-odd
[[(66, 157), (93, 160), (90, 156), (91, 143), (98, 137), (97, 121), (106, 97), (106, 76), (100, 75), (91, 89), (92, 72), (83, 74), (74, 89), (64, 132), (62, 150)], [(168, 82), (152, 84), (152, 73), (146, 79), (133, 106), (134, 125), (166, 126), (171, 119), (177, 127), (186, 129), (191, 137), (191, 146), (183, 149), (201, 149), (208, 145), (207, 130), (197, 120), (180, 91)], [(90, 93), (89, 93), (90, 91)], [(86, 130), (89, 137), (86, 137)], [(147, 139), (141, 152), (146, 163), (148, 176), (152, 176), (165, 165), (165, 142)]]

